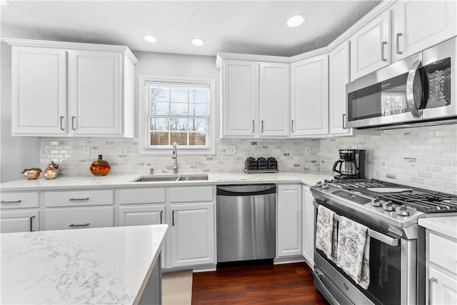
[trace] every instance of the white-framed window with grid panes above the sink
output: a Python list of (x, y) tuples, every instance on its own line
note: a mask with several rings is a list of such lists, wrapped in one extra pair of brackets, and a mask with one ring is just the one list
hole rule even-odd
[(140, 76), (139, 85), (140, 152), (164, 154), (174, 142), (186, 154), (214, 152), (214, 81)]

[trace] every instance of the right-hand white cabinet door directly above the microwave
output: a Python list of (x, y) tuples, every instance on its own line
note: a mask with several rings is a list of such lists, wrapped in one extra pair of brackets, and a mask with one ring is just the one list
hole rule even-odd
[(456, 1), (398, 1), (392, 16), (393, 60), (456, 36), (456, 6)]

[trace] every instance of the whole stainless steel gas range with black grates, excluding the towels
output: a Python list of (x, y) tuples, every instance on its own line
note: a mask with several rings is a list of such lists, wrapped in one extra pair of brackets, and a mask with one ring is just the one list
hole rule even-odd
[[(318, 182), (311, 186), (316, 208), (367, 227), (369, 285), (351, 276), (314, 247), (314, 281), (332, 304), (425, 304), (423, 217), (457, 215), (457, 196), (374, 179)], [(336, 235), (338, 236), (338, 235)]]

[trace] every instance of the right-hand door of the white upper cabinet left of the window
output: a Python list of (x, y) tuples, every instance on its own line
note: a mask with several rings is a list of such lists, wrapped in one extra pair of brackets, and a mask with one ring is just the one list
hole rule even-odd
[(69, 51), (69, 128), (75, 135), (122, 134), (122, 55)]

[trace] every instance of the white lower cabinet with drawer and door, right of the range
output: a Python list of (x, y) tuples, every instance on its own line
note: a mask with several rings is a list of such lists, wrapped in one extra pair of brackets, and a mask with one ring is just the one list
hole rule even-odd
[(428, 305), (457, 304), (457, 241), (426, 229)]

